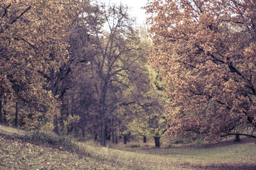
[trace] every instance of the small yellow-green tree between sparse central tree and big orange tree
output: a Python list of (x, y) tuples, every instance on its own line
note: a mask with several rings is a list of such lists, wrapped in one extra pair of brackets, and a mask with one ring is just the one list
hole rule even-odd
[[(140, 102), (133, 106), (132, 121), (128, 125), (132, 132), (143, 136), (143, 141), (146, 136), (154, 138), (155, 146), (160, 147), (160, 138), (166, 131), (166, 113), (164, 111), (164, 96), (165, 86), (163, 80), (159, 78), (159, 73), (152, 70), (146, 64), (148, 71), (147, 84), (149, 85), (145, 92), (140, 97)], [(145, 76), (144, 76), (145, 78)]]

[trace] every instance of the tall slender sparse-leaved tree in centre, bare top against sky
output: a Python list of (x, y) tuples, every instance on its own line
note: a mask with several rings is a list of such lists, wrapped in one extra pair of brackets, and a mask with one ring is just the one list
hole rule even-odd
[[(92, 15), (95, 22), (104, 20), (105, 30), (95, 28), (91, 31), (94, 41), (95, 55), (92, 67), (93, 86), (99, 111), (100, 144), (106, 146), (106, 127), (111, 122), (113, 113), (124, 103), (123, 92), (129, 88), (129, 73), (138, 66), (141, 58), (140, 39), (132, 29), (132, 20), (127, 14), (127, 7), (100, 6), (100, 11)], [(94, 16), (94, 17), (93, 17)]]

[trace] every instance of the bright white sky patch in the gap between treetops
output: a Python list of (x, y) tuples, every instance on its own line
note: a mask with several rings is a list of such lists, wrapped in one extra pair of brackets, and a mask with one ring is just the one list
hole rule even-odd
[(107, 4), (115, 3), (115, 4), (125, 4), (131, 8), (129, 13), (131, 17), (135, 17), (138, 25), (144, 25), (146, 22), (147, 15), (145, 14), (145, 10), (141, 9), (141, 7), (146, 6), (147, 0), (101, 0), (106, 2)]

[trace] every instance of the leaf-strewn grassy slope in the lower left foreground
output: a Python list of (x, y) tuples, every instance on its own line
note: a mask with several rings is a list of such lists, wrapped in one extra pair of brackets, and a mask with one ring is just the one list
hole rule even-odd
[(87, 154), (35, 145), (23, 139), (26, 132), (0, 125), (0, 169), (116, 169)]

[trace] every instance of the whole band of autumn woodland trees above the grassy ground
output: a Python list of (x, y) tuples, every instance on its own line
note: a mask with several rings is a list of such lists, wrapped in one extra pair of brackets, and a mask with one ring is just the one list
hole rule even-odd
[(0, 123), (101, 146), (256, 138), (256, 2), (0, 1)]

